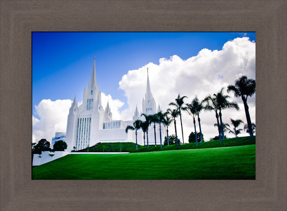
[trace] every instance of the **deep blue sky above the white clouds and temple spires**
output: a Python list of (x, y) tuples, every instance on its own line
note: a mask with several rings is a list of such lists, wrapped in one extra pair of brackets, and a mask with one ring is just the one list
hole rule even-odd
[[(96, 56), (102, 92), (126, 102), (119, 81), (129, 70), (160, 58), (188, 59), (204, 48), (221, 50), (228, 40), (255, 32), (33, 32), (32, 110), (42, 99), (81, 101)], [(126, 109), (127, 104), (120, 109)]]

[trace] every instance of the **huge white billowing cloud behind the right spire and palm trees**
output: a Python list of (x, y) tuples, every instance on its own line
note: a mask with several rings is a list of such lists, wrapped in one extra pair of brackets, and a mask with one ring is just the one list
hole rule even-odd
[[(255, 43), (248, 37), (236, 38), (224, 44), (222, 50), (202, 49), (194, 57), (187, 60), (177, 55), (170, 58), (160, 58), (159, 65), (148, 63), (145, 66), (130, 70), (122, 77), (119, 88), (125, 91), (128, 109), (121, 112), (122, 119), (131, 119), (135, 105), (141, 109), (142, 98), (146, 91), (147, 67), (152, 94), (156, 103), (166, 111), (168, 104), (177, 97), (187, 96), (185, 102), (190, 103), (195, 96), (202, 100), (208, 94), (217, 93), (222, 87), (234, 84), (234, 81), (243, 75), (255, 79)], [(246, 122), (242, 100), (229, 93), (230, 101), (238, 102), (240, 111), (235, 109), (224, 110), (222, 118), (230, 124), (230, 118), (241, 119)], [(255, 95), (248, 99), (251, 121), (255, 122)], [(200, 114), (202, 132), (205, 140), (218, 135), (218, 130), (213, 125), (216, 123), (215, 112), (204, 111)], [(184, 139), (187, 142), (189, 133), (194, 131), (193, 120), (187, 113), (183, 114)], [(243, 125), (241, 126), (243, 128)], [(197, 123), (197, 130), (198, 123)], [(178, 121), (177, 131), (181, 137), (181, 128)], [(243, 132), (242, 135), (246, 135)], [(231, 134), (226, 134), (233, 137)]]

